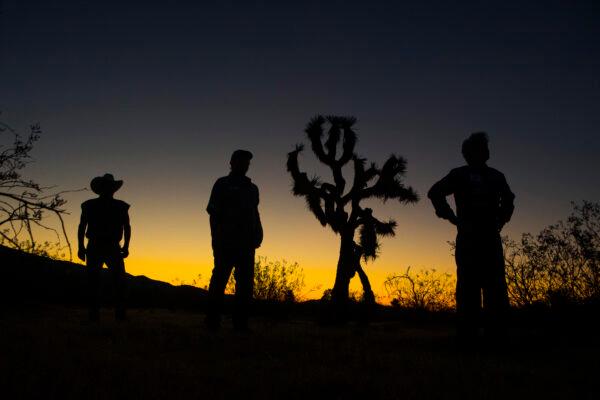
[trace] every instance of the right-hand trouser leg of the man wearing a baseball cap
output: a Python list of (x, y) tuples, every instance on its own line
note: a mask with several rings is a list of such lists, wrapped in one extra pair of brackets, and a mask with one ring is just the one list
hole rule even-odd
[(248, 314), (254, 289), (254, 249), (240, 251), (235, 266), (235, 329), (248, 329)]

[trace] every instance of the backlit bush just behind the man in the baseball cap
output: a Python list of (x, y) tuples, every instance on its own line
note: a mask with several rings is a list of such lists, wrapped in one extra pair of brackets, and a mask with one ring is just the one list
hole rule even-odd
[[(254, 262), (255, 299), (293, 302), (302, 298), (303, 288), (304, 271), (298, 263), (288, 263), (286, 260), (269, 261), (266, 257), (257, 257)], [(225, 291), (235, 293), (233, 274)]]

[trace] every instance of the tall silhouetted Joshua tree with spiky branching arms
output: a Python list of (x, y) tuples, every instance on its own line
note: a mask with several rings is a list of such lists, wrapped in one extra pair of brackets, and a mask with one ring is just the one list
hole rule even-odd
[[(331, 169), (333, 183), (322, 182), (319, 177), (309, 178), (306, 173), (300, 172), (298, 154), (304, 148), (302, 144), (288, 154), (287, 161), (287, 170), (294, 181), (293, 194), (304, 196), (308, 208), (321, 225), (329, 225), (340, 235), (340, 255), (331, 292), (332, 300), (337, 303), (348, 299), (350, 279), (355, 273), (359, 274), (363, 284), (365, 299), (372, 298), (369, 280), (360, 266), (360, 259), (375, 259), (379, 253), (379, 237), (393, 236), (395, 233), (394, 220), (380, 221), (373, 216), (373, 210), (361, 206), (361, 201), (369, 198), (384, 202), (394, 199), (407, 204), (418, 200), (415, 191), (402, 182), (406, 173), (404, 158), (391, 155), (381, 168), (375, 163), (366, 168), (366, 160), (354, 152), (357, 137), (352, 126), (355, 122), (354, 117), (318, 115), (306, 126), (311, 148), (317, 159)], [(326, 123), (329, 124), (329, 130), (323, 142)], [(341, 147), (339, 158), (338, 147)], [(354, 178), (352, 187), (346, 190), (342, 169), (350, 161), (354, 165)], [(358, 243), (355, 241), (357, 230)]]

